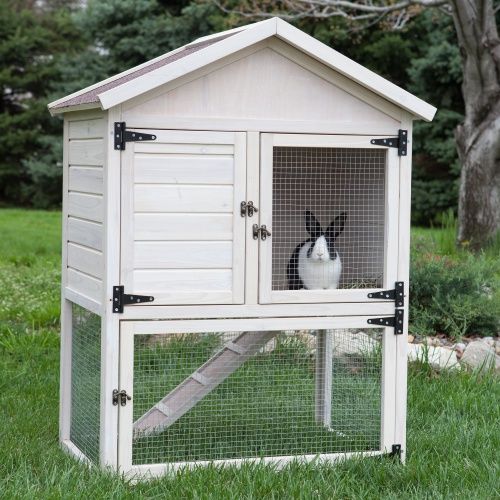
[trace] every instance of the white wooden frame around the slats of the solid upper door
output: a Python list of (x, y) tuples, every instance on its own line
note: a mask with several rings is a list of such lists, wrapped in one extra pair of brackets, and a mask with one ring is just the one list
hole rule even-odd
[[(202, 145), (218, 144), (234, 147), (233, 182), (233, 254), (231, 291), (179, 292), (177, 290), (155, 294), (152, 306), (165, 304), (242, 304), (245, 292), (245, 219), (240, 217), (240, 202), (246, 193), (246, 137), (244, 132), (212, 132), (183, 130), (143, 130), (155, 134), (161, 142), (173, 144), (193, 143)], [(134, 293), (134, 155), (137, 148), (146, 147), (142, 143), (131, 142), (122, 152), (121, 177), (121, 284), (127, 293)], [(138, 293), (135, 291), (135, 293)]]

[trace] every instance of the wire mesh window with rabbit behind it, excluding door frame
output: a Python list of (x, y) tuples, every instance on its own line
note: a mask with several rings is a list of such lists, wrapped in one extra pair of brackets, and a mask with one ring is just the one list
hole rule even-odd
[(382, 286), (385, 165), (378, 149), (273, 149), (273, 290)]

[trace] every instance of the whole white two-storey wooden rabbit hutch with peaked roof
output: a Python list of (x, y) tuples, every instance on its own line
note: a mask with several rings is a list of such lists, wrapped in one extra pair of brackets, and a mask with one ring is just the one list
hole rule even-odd
[(60, 440), (131, 478), (404, 459), (412, 121), (280, 19), (64, 116)]

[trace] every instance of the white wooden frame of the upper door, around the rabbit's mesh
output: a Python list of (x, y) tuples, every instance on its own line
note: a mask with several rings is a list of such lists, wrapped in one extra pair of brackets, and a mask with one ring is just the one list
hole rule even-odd
[[(272, 245), (270, 238), (259, 240), (259, 302), (313, 303), (313, 302), (369, 302), (368, 294), (393, 288), (397, 276), (398, 203), (399, 203), (399, 157), (396, 148), (376, 146), (370, 143), (373, 136), (352, 135), (308, 135), (308, 134), (262, 134), (260, 170), (260, 224), (272, 229), (272, 185), (273, 147), (337, 147), (369, 148), (387, 151), (385, 176), (385, 238), (383, 288), (338, 289), (338, 290), (272, 290)], [(271, 235), (272, 238), (272, 235)]]

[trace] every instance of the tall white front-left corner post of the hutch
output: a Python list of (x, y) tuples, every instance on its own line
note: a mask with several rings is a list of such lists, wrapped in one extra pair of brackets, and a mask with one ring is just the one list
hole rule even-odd
[(119, 315), (112, 313), (112, 286), (120, 279), (120, 151), (113, 144), (113, 126), (120, 121), (121, 108), (108, 111), (104, 162), (103, 295), (101, 322), (101, 432), (100, 462), (116, 469), (118, 461), (118, 409), (113, 389), (118, 387)]

